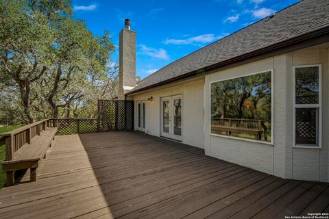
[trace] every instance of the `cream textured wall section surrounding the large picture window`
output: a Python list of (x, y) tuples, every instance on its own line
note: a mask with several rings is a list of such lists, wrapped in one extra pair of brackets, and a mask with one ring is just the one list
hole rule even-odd
[[(284, 66), (284, 57), (278, 58), (279, 66)], [(245, 140), (235, 140), (230, 138), (223, 138), (220, 136), (210, 136), (210, 83), (211, 81), (218, 81), (221, 79), (228, 79), (231, 77), (240, 77), (243, 75), (248, 75), (252, 73), (258, 73), (263, 70), (274, 70), (274, 79), (282, 77), (284, 73), (276, 71), (274, 69), (274, 58), (268, 58), (265, 60), (260, 60), (258, 62), (252, 62), (250, 64), (245, 64), (243, 66), (236, 66), (234, 68), (229, 68), (226, 70), (221, 70), (217, 73), (212, 73), (206, 75), (205, 84), (205, 150), (206, 154), (217, 157), (219, 159), (226, 160), (228, 162), (240, 164), (242, 166), (247, 166), (255, 170), (260, 170), (262, 172), (267, 172), (273, 174), (273, 146), (269, 144), (257, 143), (257, 142), (247, 142)], [(284, 85), (283, 85), (284, 86)], [(284, 114), (280, 111), (280, 107), (284, 103), (277, 101), (277, 96), (284, 96), (276, 94), (276, 88), (274, 88), (274, 106), (276, 114)], [(281, 99), (280, 99), (281, 100)], [(275, 117), (276, 119), (277, 117)], [(281, 125), (282, 122), (280, 122)], [(279, 123), (278, 123), (279, 125)], [(282, 125), (281, 125), (282, 126)], [(274, 127), (274, 137), (276, 137), (276, 131), (280, 127)], [(274, 142), (276, 139), (274, 139)], [(283, 156), (284, 159), (284, 156)], [(283, 165), (284, 166), (284, 165)], [(284, 170), (280, 170), (281, 172)]]

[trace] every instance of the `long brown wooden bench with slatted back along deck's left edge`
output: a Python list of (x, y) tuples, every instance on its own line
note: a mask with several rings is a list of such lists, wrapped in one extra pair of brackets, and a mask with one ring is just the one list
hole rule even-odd
[(48, 127), (48, 120), (42, 120), (2, 135), (6, 147), (2, 166), (7, 176), (7, 186), (14, 184), (16, 170), (30, 169), (30, 180), (36, 181), (36, 168), (45, 159), (56, 132), (56, 127)]

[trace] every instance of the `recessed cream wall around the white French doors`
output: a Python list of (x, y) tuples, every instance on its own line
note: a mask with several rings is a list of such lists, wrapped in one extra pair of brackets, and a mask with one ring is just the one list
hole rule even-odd
[[(204, 148), (204, 78), (197, 81), (173, 85), (133, 97), (135, 101), (146, 100), (153, 96), (154, 101), (146, 103), (146, 129), (149, 135), (160, 136), (160, 100), (164, 96), (182, 94), (182, 142)], [(135, 129), (137, 110), (135, 109)]]

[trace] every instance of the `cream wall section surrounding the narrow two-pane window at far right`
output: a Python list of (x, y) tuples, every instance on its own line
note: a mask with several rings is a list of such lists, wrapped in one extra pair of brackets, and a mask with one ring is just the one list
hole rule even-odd
[(322, 67), (322, 149), (293, 148), (293, 179), (328, 181), (328, 49), (306, 49), (291, 55), (291, 71), (296, 65)]

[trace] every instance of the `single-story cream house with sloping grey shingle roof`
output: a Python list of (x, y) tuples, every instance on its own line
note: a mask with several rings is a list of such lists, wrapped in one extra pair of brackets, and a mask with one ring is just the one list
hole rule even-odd
[(301, 1), (124, 89), (135, 130), (278, 177), (329, 182), (328, 12), (329, 1)]

